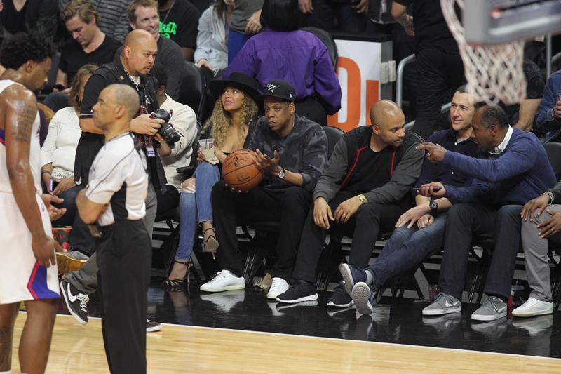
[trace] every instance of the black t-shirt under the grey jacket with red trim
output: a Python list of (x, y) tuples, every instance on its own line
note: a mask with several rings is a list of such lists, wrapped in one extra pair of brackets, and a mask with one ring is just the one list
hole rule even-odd
[(366, 147), (356, 163), (351, 178), (346, 182), (344, 190), (363, 194), (374, 188), (381, 187), (389, 182), (393, 169), (396, 168), (396, 148), (388, 146), (380, 152), (374, 152), (370, 147)]

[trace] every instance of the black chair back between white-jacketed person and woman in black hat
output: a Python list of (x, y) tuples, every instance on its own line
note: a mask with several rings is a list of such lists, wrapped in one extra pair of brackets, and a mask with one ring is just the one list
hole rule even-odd
[(197, 119), (201, 121), (201, 112), (205, 105), (206, 82), (201, 70), (193, 62), (185, 61), (180, 95), (177, 99), (194, 110)]

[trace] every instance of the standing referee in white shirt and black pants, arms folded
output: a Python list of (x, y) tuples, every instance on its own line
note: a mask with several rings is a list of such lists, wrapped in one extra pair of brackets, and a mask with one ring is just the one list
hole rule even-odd
[(93, 107), (105, 144), (76, 196), (81, 219), (97, 237), (102, 330), (111, 373), (146, 373), (146, 293), (151, 241), (146, 215), (147, 161), (130, 133), (140, 106), (134, 88), (111, 84)]

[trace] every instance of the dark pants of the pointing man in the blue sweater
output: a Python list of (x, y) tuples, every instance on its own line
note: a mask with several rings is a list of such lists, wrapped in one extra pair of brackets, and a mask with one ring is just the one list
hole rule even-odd
[(496, 210), (475, 203), (459, 203), (450, 208), (440, 267), (439, 283), (443, 293), (461, 300), (472, 239), (494, 239), (484, 292), (508, 298), (520, 248), (520, 211), (520, 205), (506, 205)]

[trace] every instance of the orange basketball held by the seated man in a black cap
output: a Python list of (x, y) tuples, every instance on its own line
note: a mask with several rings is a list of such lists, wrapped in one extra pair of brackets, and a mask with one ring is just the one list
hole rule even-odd
[(250, 149), (238, 149), (227, 156), (222, 166), (222, 178), (229, 187), (250, 191), (259, 185), (263, 172), (255, 164), (257, 155)]

